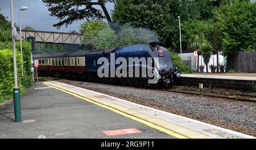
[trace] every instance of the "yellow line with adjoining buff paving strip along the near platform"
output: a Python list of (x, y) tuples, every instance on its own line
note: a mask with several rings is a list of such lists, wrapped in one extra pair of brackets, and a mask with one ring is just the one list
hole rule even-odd
[[(126, 107), (115, 105), (114, 103), (110, 103), (110, 102), (104, 101), (104, 100), (102, 100), (100, 98), (96, 98), (96, 97), (92, 97), (92, 96), (84, 94), (84, 93), (80, 93), (79, 91), (74, 91), (74, 90), (65, 88), (63, 86), (59, 86), (59, 85), (52, 84), (52, 83), (44, 82), (44, 84), (46, 84), (48, 86), (51, 86), (51, 87), (54, 87), (55, 89), (64, 91), (65, 93), (71, 94), (71, 95), (73, 95), (75, 97), (84, 99), (85, 101), (88, 101), (90, 103), (94, 103), (95, 105), (104, 107), (105, 109), (109, 109), (109, 110), (111, 110), (111, 111), (113, 111), (113, 112), (115, 112), (117, 114), (126, 116), (127, 118), (136, 120), (137, 122), (141, 122), (143, 124), (146, 124), (149, 127), (152, 127), (152, 128), (155, 128), (155, 129), (157, 129), (159, 131), (165, 132), (166, 134), (174, 136), (175, 138), (187, 139), (188, 136), (185, 136), (185, 135), (191, 135), (192, 137), (195, 136), (195, 138), (209, 138), (209, 136), (200, 134), (199, 132), (195, 132), (195, 131), (189, 130), (187, 128), (177, 126), (175, 124), (165, 122), (164, 120), (160, 120), (160, 119), (152, 117), (150, 115), (139, 113), (138, 111), (127, 109)], [(79, 94), (76, 94), (76, 93), (79, 93)], [(96, 102), (96, 101), (98, 101), (98, 102)], [(125, 111), (125, 112), (123, 112), (123, 111)], [(129, 114), (127, 114), (127, 112), (129, 112)], [(141, 118), (143, 118), (143, 119), (141, 119)], [(163, 127), (159, 126), (158, 124), (149, 122), (147, 120), (152, 120), (152, 122), (160, 123), (160, 124), (163, 125)], [(167, 128), (174, 128), (177, 131), (178, 130), (182, 131), (183, 135), (178, 134), (178, 133), (176, 133), (174, 131), (168, 130)]]

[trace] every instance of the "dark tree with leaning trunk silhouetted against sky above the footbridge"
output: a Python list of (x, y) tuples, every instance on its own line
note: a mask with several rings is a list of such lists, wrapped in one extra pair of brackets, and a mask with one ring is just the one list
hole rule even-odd
[[(114, 0), (98, 0), (92, 2), (92, 0), (43, 0), (51, 12), (51, 16), (56, 16), (60, 19), (59, 23), (53, 24), (54, 27), (60, 28), (65, 25), (68, 26), (75, 20), (82, 19), (102, 19), (106, 18), (108, 23), (112, 23), (109, 12), (105, 7), (106, 2), (114, 2)], [(102, 15), (101, 10), (94, 8), (94, 5), (101, 6), (105, 17)]]

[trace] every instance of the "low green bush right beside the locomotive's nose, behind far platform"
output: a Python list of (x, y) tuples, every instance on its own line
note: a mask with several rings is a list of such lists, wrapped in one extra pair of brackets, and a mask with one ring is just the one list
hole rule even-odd
[(172, 63), (174, 66), (177, 66), (179, 73), (191, 73), (191, 68), (185, 64), (180, 59), (180, 56), (177, 55), (174, 51), (170, 51), (172, 56)]

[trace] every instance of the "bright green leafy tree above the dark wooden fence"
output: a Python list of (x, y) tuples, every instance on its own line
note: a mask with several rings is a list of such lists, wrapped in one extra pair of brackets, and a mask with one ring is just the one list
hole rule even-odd
[(224, 55), (256, 49), (256, 3), (234, 1), (214, 11), (224, 33)]

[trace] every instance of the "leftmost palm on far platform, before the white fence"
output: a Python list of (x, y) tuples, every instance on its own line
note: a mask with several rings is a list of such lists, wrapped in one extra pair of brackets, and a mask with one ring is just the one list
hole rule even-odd
[(188, 44), (188, 49), (191, 51), (197, 51), (197, 68), (196, 68), (196, 72), (199, 72), (199, 56), (201, 55), (201, 49), (200, 49), (200, 45), (201, 45), (201, 39), (198, 35), (193, 36), (193, 39), (191, 40), (191, 42)]

